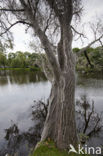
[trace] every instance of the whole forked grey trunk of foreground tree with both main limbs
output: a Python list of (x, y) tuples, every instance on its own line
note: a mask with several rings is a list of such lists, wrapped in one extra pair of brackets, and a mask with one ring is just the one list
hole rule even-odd
[[(68, 3), (69, 4), (69, 3)], [(72, 1), (71, 1), (72, 4)], [(70, 5), (71, 7), (72, 5)], [(70, 10), (69, 10), (70, 11)], [(71, 14), (72, 16), (72, 14)], [(66, 18), (65, 18), (66, 17)], [(31, 19), (33, 19), (31, 17)], [(62, 21), (63, 20), (63, 21)], [(61, 19), (61, 40), (58, 44), (58, 60), (53, 46), (35, 19), (34, 30), (41, 40), (53, 71), (49, 109), (41, 141), (52, 139), (58, 148), (68, 149), (78, 143), (75, 123), (75, 63), (72, 53), (72, 32), (70, 19)], [(32, 20), (33, 21), (33, 20)], [(59, 55), (60, 54), (60, 55)]]

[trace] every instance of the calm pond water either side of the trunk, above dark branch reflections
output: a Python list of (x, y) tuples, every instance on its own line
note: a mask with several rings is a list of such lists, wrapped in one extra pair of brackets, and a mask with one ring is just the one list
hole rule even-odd
[[(86, 95), (94, 101), (95, 110), (103, 111), (103, 77), (76, 75), (76, 99)], [(21, 131), (32, 125), (30, 108), (34, 100), (44, 101), (50, 94), (51, 84), (40, 72), (0, 72), (0, 149), (4, 146), (5, 129), (12, 122)]]

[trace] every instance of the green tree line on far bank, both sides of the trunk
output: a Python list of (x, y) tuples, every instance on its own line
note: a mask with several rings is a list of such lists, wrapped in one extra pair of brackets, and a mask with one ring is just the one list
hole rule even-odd
[[(78, 56), (79, 48), (74, 48), (73, 52), (76, 54), (77, 70), (87, 70), (93, 69), (95, 67), (96, 70), (103, 69), (103, 48), (88, 48), (86, 51), (81, 53)], [(33, 66), (38, 66), (41, 60), (40, 53), (30, 53), (30, 52), (10, 52), (5, 54), (0, 52), (0, 67), (5, 68), (28, 68)]]

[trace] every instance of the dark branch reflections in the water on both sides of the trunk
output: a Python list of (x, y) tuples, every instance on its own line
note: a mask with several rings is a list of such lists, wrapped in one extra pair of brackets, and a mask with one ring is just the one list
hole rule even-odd
[[(40, 140), (48, 104), (42, 101), (34, 102), (35, 104), (32, 106), (34, 125), (27, 132), (21, 133), (16, 124), (12, 124), (10, 128), (5, 130), (5, 139), (8, 142), (5, 154), (9, 153), (14, 156), (14, 153), (18, 153), (17, 156), (27, 156)], [(92, 101), (90, 104), (86, 96), (82, 96), (80, 100), (76, 101), (76, 119), (77, 130), (82, 134), (82, 143), (86, 141), (86, 136), (90, 138), (102, 131), (101, 115), (95, 112), (94, 102)]]

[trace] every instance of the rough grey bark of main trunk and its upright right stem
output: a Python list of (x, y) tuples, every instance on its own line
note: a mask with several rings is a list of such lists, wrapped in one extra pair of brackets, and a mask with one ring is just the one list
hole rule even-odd
[(63, 26), (62, 37), (62, 53), (67, 60), (62, 64), (65, 67), (61, 67), (59, 80), (54, 79), (52, 83), (41, 141), (50, 138), (60, 149), (68, 149), (70, 144), (76, 147), (78, 143), (75, 123), (75, 63), (71, 48), (71, 30), (66, 30)]

